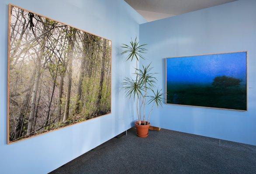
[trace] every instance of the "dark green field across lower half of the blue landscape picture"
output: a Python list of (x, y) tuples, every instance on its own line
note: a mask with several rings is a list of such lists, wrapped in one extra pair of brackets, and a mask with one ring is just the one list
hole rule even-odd
[(246, 110), (246, 86), (221, 89), (211, 85), (170, 84), (167, 91), (170, 104)]

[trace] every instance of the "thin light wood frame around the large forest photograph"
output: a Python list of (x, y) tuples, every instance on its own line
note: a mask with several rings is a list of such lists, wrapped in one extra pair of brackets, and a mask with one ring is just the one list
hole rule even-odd
[(110, 55), (110, 56), (111, 56), (111, 57), (110, 57), (110, 61), (111, 61), (111, 63), (110, 63), (110, 70), (111, 70), (111, 75), (110, 75), (110, 84), (111, 84), (111, 88), (110, 88), (110, 105), (111, 105), (111, 111), (110, 111), (110, 113), (108, 113), (108, 114), (100, 115), (100, 116), (98, 116), (98, 117), (94, 117), (94, 118), (91, 118), (91, 119), (88, 119), (88, 120), (84, 120), (84, 121), (81, 121), (81, 122), (78, 122), (78, 123), (75, 123), (75, 124), (70, 124), (70, 125), (67, 125), (67, 126), (65, 126), (65, 127), (59, 127), (59, 128), (57, 128), (57, 129), (54, 129), (54, 130), (51, 130), (51, 131), (48, 131), (48, 132), (43, 132), (43, 133), (41, 133), (41, 134), (36, 134), (36, 135), (31, 136), (31, 137), (27, 137), (27, 138), (24, 138), (24, 139), (21, 139), (21, 140), (17, 140), (17, 141), (12, 141), (12, 142), (10, 142), (10, 31), (11, 31), (11, 30), (10, 30), (10, 25), (11, 25), (11, 23), (10, 23), (10, 20), (11, 20), (11, 13), (10, 13), (10, 12), (11, 12), (11, 7), (20, 8), (21, 10), (25, 10), (25, 11), (28, 11), (28, 12), (30, 12), (30, 13), (34, 13), (34, 14), (36, 14), (36, 15), (38, 15), (38, 16), (45, 17), (44, 15), (35, 13), (35, 12), (31, 11), (31, 10), (27, 10), (27, 9), (22, 8), (22, 7), (18, 7), (18, 6), (16, 6), (16, 5), (14, 5), (14, 4), (11, 4), (11, 3), (8, 4), (8, 29), (7, 29), (7, 32), (8, 32), (8, 36), (7, 36), (7, 39), (8, 39), (8, 41), (7, 41), (7, 44), (8, 44), (8, 45), (7, 45), (7, 144), (17, 143), (17, 142), (19, 142), (19, 141), (27, 140), (27, 139), (29, 139), (29, 138), (31, 138), (31, 137), (36, 137), (36, 136), (40, 136), (40, 135), (43, 135), (43, 134), (47, 134), (47, 133), (50, 133), (50, 132), (52, 132), (52, 131), (57, 131), (57, 130), (59, 130), (59, 129), (63, 129), (63, 128), (66, 128), (66, 127), (69, 127), (69, 126), (73, 126), (73, 125), (76, 125), (76, 124), (82, 124), (83, 122), (86, 122), (86, 121), (88, 121), (88, 120), (93, 120), (93, 119), (97, 119), (97, 118), (99, 118), (99, 117), (103, 117), (103, 116), (106, 116), (106, 115), (111, 115), (111, 114), (112, 114), (112, 41), (109, 40), (109, 39), (107, 39), (107, 38), (100, 37), (100, 36), (98, 36), (98, 35), (96, 35), (96, 34), (90, 33), (90, 32), (88, 32), (88, 31), (86, 31), (86, 30), (81, 30), (81, 29), (79, 29), (79, 28), (77, 28), (77, 27), (73, 27), (73, 26), (68, 25), (68, 24), (66, 24), (66, 23), (59, 22), (58, 20), (54, 20), (54, 19), (52, 19), (52, 18), (45, 17), (45, 18), (47, 18), (47, 19), (49, 19), (49, 20), (53, 20), (53, 21), (55, 21), (55, 22), (62, 23), (62, 24), (64, 24), (64, 25), (66, 25), (66, 26), (73, 27), (73, 28), (75, 28), (75, 29), (77, 29), (77, 30), (80, 30), (80, 31), (83, 31), (83, 32), (85, 32), (85, 33), (89, 33), (89, 34), (91, 34), (91, 35), (94, 35), (94, 36), (97, 36), (97, 37), (100, 37), (100, 38), (102, 38), (102, 39), (105, 39), (105, 40), (110, 41), (110, 43), (111, 43), (111, 53), (110, 53), (110, 54), (111, 54), (111, 55)]

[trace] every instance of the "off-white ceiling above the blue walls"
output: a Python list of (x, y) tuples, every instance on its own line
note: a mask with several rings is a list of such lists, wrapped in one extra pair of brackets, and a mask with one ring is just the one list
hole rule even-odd
[(235, 0), (125, 0), (147, 21), (172, 17)]

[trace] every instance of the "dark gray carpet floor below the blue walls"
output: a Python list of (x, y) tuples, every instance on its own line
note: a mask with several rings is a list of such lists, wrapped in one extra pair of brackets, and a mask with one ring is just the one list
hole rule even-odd
[(256, 146), (161, 129), (113, 138), (50, 174), (256, 174)]

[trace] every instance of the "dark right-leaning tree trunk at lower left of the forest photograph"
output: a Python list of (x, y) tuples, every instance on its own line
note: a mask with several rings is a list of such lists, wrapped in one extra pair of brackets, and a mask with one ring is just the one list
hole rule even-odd
[(34, 81), (34, 78), (35, 78), (35, 70), (33, 70), (32, 72), (33, 73), (31, 74), (31, 77), (30, 77), (29, 82), (28, 82), (30, 85), (28, 86), (28, 91), (27, 91), (26, 95), (24, 96), (22, 106), (21, 106), (20, 111), (19, 111), (19, 116), (17, 117), (17, 122), (15, 124), (14, 139), (19, 138), (22, 134), (23, 120), (24, 120), (25, 114), (27, 113), (27, 108), (28, 108), (28, 103), (29, 103), (29, 99), (30, 99), (30, 96), (31, 96), (33, 81)]

